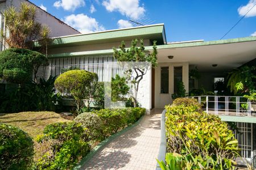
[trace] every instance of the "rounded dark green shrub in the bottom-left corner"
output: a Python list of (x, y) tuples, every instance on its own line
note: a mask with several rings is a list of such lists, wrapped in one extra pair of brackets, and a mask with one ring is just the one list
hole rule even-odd
[(34, 143), (27, 133), (0, 124), (0, 169), (27, 169), (34, 155)]

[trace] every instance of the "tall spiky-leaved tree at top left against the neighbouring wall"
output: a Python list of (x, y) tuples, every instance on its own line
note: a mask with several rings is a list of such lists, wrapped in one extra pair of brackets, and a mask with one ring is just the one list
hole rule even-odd
[(32, 49), (32, 40), (35, 39), (42, 40), (41, 45), (45, 48), (50, 31), (47, 26), (36, 21), (36, 6), (23, 2), (18, 10), (13, 6), (8, 7), (3, 15), (6, 31), (1, 30), (1, 36), (9, 48)]

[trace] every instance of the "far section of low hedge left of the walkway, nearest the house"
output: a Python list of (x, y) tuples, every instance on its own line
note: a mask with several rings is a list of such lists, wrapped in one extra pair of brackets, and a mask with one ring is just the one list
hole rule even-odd
[(82, 113), (75, 118), (88, 130), (89, 138), (102, 141), (117, 131), (134, 124), (143, 114), (144, 108), (101, 109)]

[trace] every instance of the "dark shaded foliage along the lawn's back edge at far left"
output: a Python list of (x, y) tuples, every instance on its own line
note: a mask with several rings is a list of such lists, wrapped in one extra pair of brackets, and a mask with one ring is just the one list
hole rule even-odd
[(0, 112), (56, 111), (61, 96), (55, 94), (54, 81), (55, 77), (49, 76), (48, 80), (40, 78), (38, 83), (30, 81), (0, 92)]

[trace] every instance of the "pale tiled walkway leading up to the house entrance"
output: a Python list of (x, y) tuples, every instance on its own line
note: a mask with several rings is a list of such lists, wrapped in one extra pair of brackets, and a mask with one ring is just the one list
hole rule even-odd
[(158, 109), (144, 116), (139, 125), (98, 151), (82, 169), (155, 169), (161, 112)]

